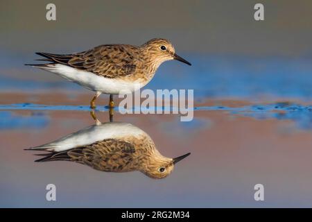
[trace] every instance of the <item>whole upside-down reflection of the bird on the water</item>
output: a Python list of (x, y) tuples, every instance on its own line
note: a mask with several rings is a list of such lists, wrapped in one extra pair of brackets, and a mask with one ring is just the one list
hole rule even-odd
[(29, 150), (50, 152), (36, 162), (67, 160), (99, 171), (141, 171), (150, 178), (168, 176), (174, 164), (190, 154), (164, 157), (143, 130), (130, 123), (114, 122), (98, 123)]

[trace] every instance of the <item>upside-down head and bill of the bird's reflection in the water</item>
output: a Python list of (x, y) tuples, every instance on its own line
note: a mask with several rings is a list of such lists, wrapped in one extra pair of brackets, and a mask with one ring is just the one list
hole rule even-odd
[(150, 161), (146, 163), (142, 172), (153, 179), (162, 179), (168, 176), (172, 171), (177, 162), (183, 160), (185, 157), (190, 155), (187, 153), (180, 157), (168, 158), (159, 155), (157, 157), (151, 157)]

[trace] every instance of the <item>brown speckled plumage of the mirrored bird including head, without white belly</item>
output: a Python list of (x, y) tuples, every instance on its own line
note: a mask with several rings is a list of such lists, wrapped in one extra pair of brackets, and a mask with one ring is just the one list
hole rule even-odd
[[(97, 127), (101, 126), (94, 126)], [(82, 137), (85, 137), (84, 135), (85, 133), (81, 134)], [(44, 147), (31, 149), (49, 151), (51, 146)], [(141, 135), (134, 136), (129, 133), (128, 136), (103, 139), (85, 146), (69, 148), (66, 151), (50, 152), (36, 162), (60, 160), (77, 162), (98, 171), (141, 171), (150, 178), (168, 176), (173, 171), (175, 163), (174, 158), (164, 157), (157, 151), (153, 140), (144, 131)]]

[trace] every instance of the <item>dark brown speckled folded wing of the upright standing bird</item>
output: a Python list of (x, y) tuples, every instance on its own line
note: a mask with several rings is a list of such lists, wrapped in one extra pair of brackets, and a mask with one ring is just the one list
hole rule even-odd
[(105, 78), (119, 78), (135, 74), (139, 53), (135, 46), (111, 44), (67, 55), (37, 53), (51, 62), (68, 65), (76, 69), (91, 71)]

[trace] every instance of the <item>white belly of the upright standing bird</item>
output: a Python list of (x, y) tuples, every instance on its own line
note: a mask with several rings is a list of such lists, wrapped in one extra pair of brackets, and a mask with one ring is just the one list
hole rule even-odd
[(78, 83), (87, 89), (95, 92), (103, 92), (105, 94), (119, 94), (120, 92), (124, 94), (127, 91), (130, 93), (147, 84), (147, 82), (142, 84), (139, 80), (130, 82), (120, 79), (105, 78), (103, 76), (92, 74), (92, 72), (89, 71), (79, 70), (61, 64), (40, 68), (46, 71), (51, 71), (71, 82)]

